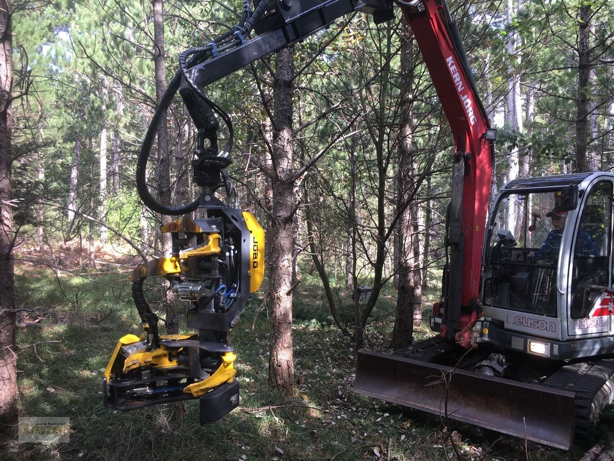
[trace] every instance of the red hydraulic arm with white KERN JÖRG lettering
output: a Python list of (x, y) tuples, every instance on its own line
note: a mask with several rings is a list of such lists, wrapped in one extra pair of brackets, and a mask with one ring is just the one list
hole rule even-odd
[(457, 25), (445, 0), (398, 1), (416, 37), (454, 137), (449, 264), (444, 275), (441, 336), (470, 347), (481, 315), (480, 277), (495, 132), (476, 91)]

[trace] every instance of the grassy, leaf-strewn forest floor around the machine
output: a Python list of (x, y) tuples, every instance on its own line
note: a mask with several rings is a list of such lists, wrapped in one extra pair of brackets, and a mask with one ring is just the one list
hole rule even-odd
[[(120, 337), (141, 328), (126, 279), (130, 265), (107, 259), (117, 266), (80, 270), (68, 261), (71, 272), (54, 272), (18, 261), (19, 317), (28, 325), (18, 328), (20, 417), (69, 417), (71, 431), (68, 443), (10, 441), (2, 459), (571, 461), (590, 447), (576, 444), (564, 452), (453, 422), (455, 451), (436, 417), (353, 393), (351, 341), (332, 325), (319, 283), (308, 274), (295, 292), (295, 398), (267, 382), (269, 322), (260, 291), (231, 334), (238, 409), (206, 426), (199, 424), (197, 401), (126, 413), (106, 409), (101, 379), (107, 361)], [(351, 299), (343, 293), (339, 299), (349, 315)], [(374, 349), (386, 350), (393, 313), (394, 297), (384, 294), (368, 329)], [(418, 328), (416, 337), (428, 336), (427, 330)], [(613, 429), (610, 410), (594, 438), (607, 438)]]

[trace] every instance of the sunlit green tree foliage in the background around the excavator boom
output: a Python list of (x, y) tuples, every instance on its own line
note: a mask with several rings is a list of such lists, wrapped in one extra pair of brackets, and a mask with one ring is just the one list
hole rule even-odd
[[(500, 130), (498, 146), (502, 165), (516, 149), (521, 155), (530, 156), (530, 173), (564, 170), (572, 159), (573, 85), (577, 79), (574, 58), (578, 26), (576, 13), (580, 3), (588, 4), (567, 0), (526, 0), (521, 10), (512, 13), (508, 23), (505, 10), (499, 4), (483, 2), (457, 10), (452, 2), (480, 91), (492, 94), (495, 124), (503, 111), (510, 76), (520, 77), (523, 90), (529, 85), (535, 89), (534, 116), (532, 122), (525, 125), (524, 132)], [(596, 104), (597, 126), (604, 127), (604, 132), (599, 133), (593, 144), (601, 144), (599, 151), (604, 152), (603, 160), (607, 165), (610, 160), (607, 152), (613, 151), (608, 147), (612, 136), (605, 132), (613, 79), (608, 66), (600, 66), (599, 60), (614, 54), (610, 39), (614, 15), (608, 2), (594, 1), (590, 5), (595, 24), (592, 46), (596, 84), (587, 90)], [(227, 30), (238, 20), (242, 4), (237, 0), (223, 7), (215, 2), (166, 3), (165, 7), (166, 64), (170, 76), (176, 68), (179, 52), (208, 42)], [(20, 87), (28, 90), (28, 98), (24, 98), (23, 103), (20, 101), (15, 111), (15, 153), (21, 159), (15, 167), (18, 171), (15, 176), (17, 195), (23, 203), (44, 197), (48, 202), (66, 204), (71, 156), (76, 139), (80, 138), (84, 153), (78, 165), (78, 189), (81, 193), (77, 195), (77, 206), (104, 218), (102, 211), (89, 209), (90, 192), (85, 194), (88, 184), (94, 182), (93, 206), (97, 209), (101, 199), (98, 197), (101, 179), (95, 156), (98, 155), (103, 127), (109, 130), (107, 140), (111, 135), (120, 138), (120, 195), (127, 196), (113, 197), (114, 203), (124, 204), (134, 199), (135, 154), (153, 107), (150, 4), (121, 1), (104, 4), (90, 0), (72, 4), (52, 2), (37, 9), (18, 10), (14, 25), (17, 74), (27, 76), (23, 82), (29, 82), (29, 86), (22, 84)], [(356, 15), (347, 21), (336, 22), (295, 46), (296, 68), (303, 71), (295, 82), (298, 89), (295, 127), (301, 127), (295, 135), (300, 157), (307, 159), (333, 141), (321, 162), (321, 170), (310, 183), (317, 183), (315, 188), (322, 184), (315, 195), (324, 197), (322, 207), (335, 215), (334, 220), (330, 215), (322, 216), (322, 222), (347, 222), (347, 217), (343, 216), (346, 213), (343, 200), (349, 184), (347, 152), (351, 140), (346, 138), (336, 143), (334, 140), (347, 133), (349, 125), (354, 124), (350, 130), (358, 133), (355, 148), (359, 154), (357, 173), (360, 181), (377, 180), (371, 176), (378, 160), (373, 149), (375, 132), (370, 131), (369, 126), (386, 127), (382, 132), (387, 138), (383, 148), (389, 154), (386, 161), (391, 167), (385, 173), (387, 184), (394, 176), (397, 151), (394, 133), (400, 107), (399, 31), (400, 22), (375, 26), (367, 15)], [(507, 36), (512, 32), (522, 37), (521, 47), (516, 50), (519, 59), (507, 57)], [(385, 47), (387, 43), (390, 44), (389, 50)], [(325, 50), (323, 44), (328, 44)], [(414, 145), (417, 151), (424, 152), (421, 158), (425, 162), (438, 156), (438, 163), (445, 168), (433, 179), (435, 184), (445, 187), (447, 165), (444, 159), (451, 138), (446, 132), (445, 121), (441, 120), (438, 96), (429, 83), (415, 47), (413, 56)], [(233, 166), (233, 173), (251, 185), (256, 196), (262, 195), (264, 184), (257, 168), (263, 164), (266, 151), (265, 140), (260, 136), (267, 118), (263, 98), (266, 101), (270, 97), (270, 89), (263, 85), (270, 81), (270, 68), (266, 61), (253, 65), (262, 77), (260, 82), (249, 72), (239, 72), (206, 89), (213, 100), (219, 101), (233, 114), (239, 150), (249, 152), (251, 167), (244, 171), (242, 162), (238, 161)], [(484, 76), (486, 63), (490, 70)], [(366, 82), (370, 85), (361, 89)], [(327, 113), (335, 104), (338, 108)], [(322, 117), (321, 114), (327, 115)], [(174, 146), (177, 146), (173, 175), (185, 176), (186, 163), (192, 155), (193, 133), (186, 129), (187, 114), (183, 108), (173, 106), (171, 122), (171, 136)], [(34, 154), (36, 161), (33, 160)], [(110, 152), (107, 155), (110, 157)], [(235, 155), (240, 157), (239, 152)], [(44, 179), (37, 177), (37, 165), (42, 166)], [(155, 188), (153, 179), (151, 182)], [(184, 178), (174, 181), (176, 202), (187, 200), (185, 197), (193, 194), (186, 191), (186, 182)], [(361, 191), (360, 201), (367, 205), (362, 208), (365, 216), (373, 216), (369, 203), (374, 187), (375, 183), (371, 183)], [(114, 206), (107, 208), (112, 210)], [(443, 210), (445, 204), (442, 201), (437, 207)], [(111, 214), (130, 221), (133, 219), (132, 211), (133, 208), (129, 213), (111, 211)], [(31, 211), (24, 210), (21, 216), (19, 219), (23, 219), (23, 224), (34, 223)], [(131, 223), (119, 223), (115, 217), (112, 219), (115, 226), (126, 227), (130, 229), (130, 235), (136, 235), (134, 219)], [(66, 222), (64, 226), (69, 224)], [(335, 244), (341, 245), (341, 241)]]

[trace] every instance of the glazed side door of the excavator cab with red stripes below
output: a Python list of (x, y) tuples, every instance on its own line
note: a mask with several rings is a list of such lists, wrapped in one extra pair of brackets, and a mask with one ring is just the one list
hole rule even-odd
[(570, 336), (610, 334), (612, 298), (589, 286), (612, 287), (612, 181), (594, 184), (574, 227), (567, 329)]

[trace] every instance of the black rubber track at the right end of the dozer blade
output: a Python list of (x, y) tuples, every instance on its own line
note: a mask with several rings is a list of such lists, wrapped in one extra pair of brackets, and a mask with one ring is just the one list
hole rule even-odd
[[(591, 421), (591, 405), (603, 385), (614, 375), (614, 359), (565, 365), (551, 374), (543, 384), (561, 390), (570, 390), (575, 396), (575, 438), (586, 440)], [(602, 408), (609, 403), (601, 395), (597, 404)]]

